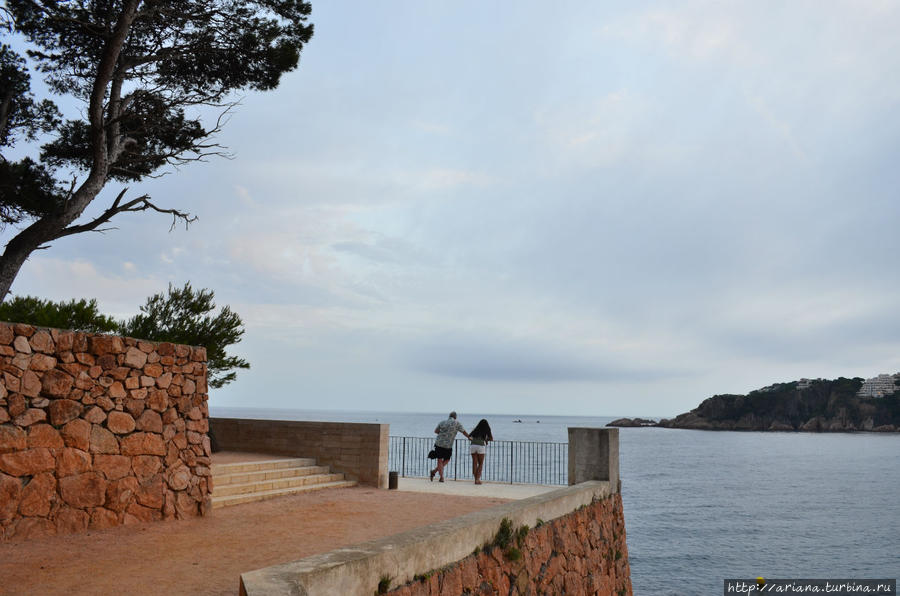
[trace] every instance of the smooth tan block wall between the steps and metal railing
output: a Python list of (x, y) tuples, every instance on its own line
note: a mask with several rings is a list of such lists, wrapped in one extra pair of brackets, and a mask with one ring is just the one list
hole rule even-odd
[(387, 488), (387, 424), (212, 418), (210, 426), (222, 450), (314, 457), (361, 484)]

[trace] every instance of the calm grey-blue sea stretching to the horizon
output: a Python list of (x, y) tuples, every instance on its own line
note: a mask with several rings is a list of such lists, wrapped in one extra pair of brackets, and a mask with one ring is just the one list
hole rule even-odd
[[(390, 424), (433, 438), (446, 413), (211, 407), (219, 417)], [(459, 413), (497, 440), (567, 442), (611, 417)], [(631, 578), (643, 596), (722, 594), (726, 578), (900, 578), (900, 434), (623, 428)]]

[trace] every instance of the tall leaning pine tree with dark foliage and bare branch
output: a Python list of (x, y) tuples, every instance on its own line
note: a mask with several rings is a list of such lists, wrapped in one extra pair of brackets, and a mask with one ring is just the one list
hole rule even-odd
[[(0, 152), (34, 143), (16, 160), (0, 153), (0, 228), (19, 227), (0, 255), (0, 300), (49, 242), (104, 229), (120, 213), (196, 219), (147, 195), (125, 199), (127, 189), (105, 210), (87, 207), (112, 182), (225, 154), (212, 137), (236, 94), (274, 89), (297, 67), (310, 14), (303, 0), (6, 0), (0, 28), (25, 51), (0, 46)], [(30, 65), (70, 108), (65, 117), (35, 97)], [(84, 213), (94, 218), (78, 222)]]

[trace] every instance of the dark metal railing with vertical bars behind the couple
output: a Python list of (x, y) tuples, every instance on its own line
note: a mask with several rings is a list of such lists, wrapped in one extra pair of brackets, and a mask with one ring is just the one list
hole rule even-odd
[[(434, 438), (391, 437), (388, 469), (400, 476), (427, 478), (437, 465), (428, 459), (434, 449)], [(566, 485), (569, 482), (569, 444), (531, 441), (491, 441), (484, 457), (486, 482)], [(472, 457), (469, 441), (456, 439), (453, 458), (444, 468), (444, 477), (453, 480), (472, 479)]]

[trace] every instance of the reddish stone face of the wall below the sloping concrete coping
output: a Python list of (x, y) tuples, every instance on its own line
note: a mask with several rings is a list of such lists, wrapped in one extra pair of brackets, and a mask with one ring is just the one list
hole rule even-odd
[(630, 596), (631, 570), (621, 495), (611, 495), (532, 528), (521, 544), (514, 537), (507, 548), (487, 546), (387, 593)]

